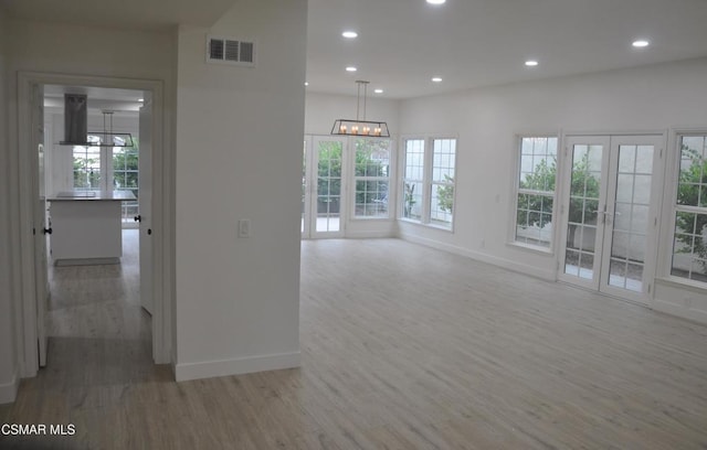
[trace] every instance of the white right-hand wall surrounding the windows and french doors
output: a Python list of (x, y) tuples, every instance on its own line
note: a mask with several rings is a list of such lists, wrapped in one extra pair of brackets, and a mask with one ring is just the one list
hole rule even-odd
[[(695, 60), (403, 101), (401, 135), (458, 135), (458, 156), (455, 232), (401, 223), (401, 235), (553, 279), (555, 255), (508, 245), (516, 135), (705, 127), (706, 79)], [(707, 311), (704, 294), (690, 304)]]

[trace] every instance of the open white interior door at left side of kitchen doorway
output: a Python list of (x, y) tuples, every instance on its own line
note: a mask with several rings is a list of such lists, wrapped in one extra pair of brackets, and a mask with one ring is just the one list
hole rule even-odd
[(34, 289), (36, 298), (36, 338), (40, 367), (46, 365), (46, 310), (49, 308), (49, 274), (46, 270), (46, 239), (52, 233), (48, 224), (46, 193), (44, 184), (44, 87), (34, 85), (32, 88), (32, 148), (35, 149), (36, 176), (32, 180), (34, 199)]

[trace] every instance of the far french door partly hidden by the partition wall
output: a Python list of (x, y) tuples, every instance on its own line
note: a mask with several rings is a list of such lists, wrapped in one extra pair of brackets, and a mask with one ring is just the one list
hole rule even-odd
[(344, 236), (342, 169), (346, 140), (314, 137), (303, 158), (302, 235), (305, 238)]

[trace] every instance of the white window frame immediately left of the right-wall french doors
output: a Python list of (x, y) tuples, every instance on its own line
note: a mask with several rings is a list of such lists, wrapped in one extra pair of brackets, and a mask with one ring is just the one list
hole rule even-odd
[[(521, 170), (521, 163), (523, 163), (523, 140), (524, 139), (528, 139), (528, 138), (540, 138), (540, 139), (556, 139), (557, 140), (557, 147), (556, 147), (556, 156), (555, 156), (555, 168), (556, 168), (556, 172), (555, 172), (555, 190), (552, 191), (552, 215), (551, 215), (551, 224), (552, 224), (552, 231), (550, 233), (550, 239), (549, 239), (549, 245), (548, 246), (542, 246), (542, 245), (535, 245), (535, 244), (529, 244), (527, 242), (523, 242), (523, 240), (517, 240), (517, 227), (518, 227), (518, 195), (521, 193), (525, 194), (529, 194), (529, 195), (546, 195), (546, 196), (550, 196), (548, 195), (549, 191), (534, 191), (534, 190), (521, 190), (520, 189), (520, 170)], [(560, 173), (560, 156), (561, 156), (561, 137), (559, 133), (552, 133), (552, 132), (538, 132), (538, 133), (534, 133), (534, 132), (524, 132), (524, 133), (518, 133), (516, 135), (516, 139), (515, 139), (515, 148), (514, 148), (514, 171), (513, 171), (513, 197), (510, 199), (510, 217), (513, 218), (513, 221), (508, 221), (509, 223), (509, 228), (508, 228), (508, 244), (516, 246), (516, 247), (520, 247), (520, 248), (525, 248), (525, 249), (529, 249), (529, 250), (535, 250), (535, 251), (539, 251), (542, 254), (548, 254), (548, 255), (552, 255), (555, 253), (555, 247), (556, 247), (556, 235), (557, 235), (557, 221), (559, 218), (558, 215), (558, 190), (560, 188), (560, 180), (561, 180), (561, 173)], [(535, 169), (535, 168), (534, 168)]]

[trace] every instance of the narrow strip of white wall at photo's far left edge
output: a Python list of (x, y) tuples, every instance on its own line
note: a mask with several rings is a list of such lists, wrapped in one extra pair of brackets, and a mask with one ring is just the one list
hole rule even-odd
[(7, 122), (8, 47), (7, 21), (0, 8), (0, 404), (12, 401), (18, 388), (18, 361), (14, 350), (14, 321), (11, 286), (9, 200), (9, 150)]

